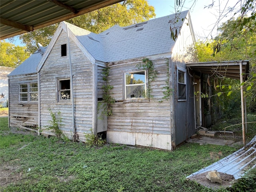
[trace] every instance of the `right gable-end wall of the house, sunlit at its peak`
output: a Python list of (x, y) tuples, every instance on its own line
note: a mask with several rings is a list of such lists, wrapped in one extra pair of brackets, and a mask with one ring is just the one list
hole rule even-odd
[(172, 50), (171, 78), (172, 82), (174, 82), (173, 111), (176, 145), (190, 138), (196, 129), (193, 78), (189, 75), (188, 71), (186, 72), (186, 101), (178, 101), (177, 93), (177, 66), (186, 69), (186, 62), (192, 62), (194, 59), (194, 34), (191, 27), (191, 21), (188, 17), (180, 30), (180, 35)]

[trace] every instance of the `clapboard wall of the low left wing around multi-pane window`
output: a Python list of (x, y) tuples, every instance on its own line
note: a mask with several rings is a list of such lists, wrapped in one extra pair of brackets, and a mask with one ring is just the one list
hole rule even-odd
[(9, 83), (10, 127), (36, 127), (38, 125), (38, 102), (19, 102), (19, 85), (37, 83), (37, 74), (10, 77)]

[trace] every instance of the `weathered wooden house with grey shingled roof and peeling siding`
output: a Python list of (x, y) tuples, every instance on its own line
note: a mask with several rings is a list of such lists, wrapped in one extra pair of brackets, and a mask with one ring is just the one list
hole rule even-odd
[[(70, 139), (106, 134), (107, 142), (173, 150), (196, 131), (186, 66), (194, 42), (188, 11), (100, 34), (61, 22), (48, 47), (8, 75), (10, 126), (52, 135), (50, 109)], [(114, 102), (102, 118), (106, 92)]]

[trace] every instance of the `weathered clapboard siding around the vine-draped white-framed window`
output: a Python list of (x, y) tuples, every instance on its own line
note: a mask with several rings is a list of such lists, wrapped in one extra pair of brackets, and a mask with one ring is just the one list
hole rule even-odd
[[(166, 86), (168, 66), (166, 59), (152, 60), (158, 72), (156, 79), (150, 82), (152, 98), (138, 102), (124, 101), (124, 73), (128, 70), (140, 70), (136, 64), (142, 59), (111, 63), (109, 78), (111, 96), (119, 101), (111, 105), (112, 115), (108, 117), (108, 131), (137, 132), (148, 134), (170, 134), (170, 101), (163, 100), (163, 87)], [(162, 100), (162, 102), (159, 102)], [(121, 101), (121, 102), (120, 102)], [(146, 102), (144, 102), (146, 101)]]

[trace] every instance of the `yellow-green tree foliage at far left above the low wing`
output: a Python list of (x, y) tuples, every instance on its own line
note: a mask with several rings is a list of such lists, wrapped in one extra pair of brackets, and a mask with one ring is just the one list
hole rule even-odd
[(26, 52), (26, 47), (15, 46), (12, 43), (0, 41), (0, 66), (17, 67), (30, 54)]

